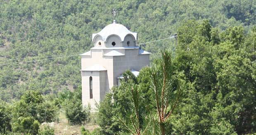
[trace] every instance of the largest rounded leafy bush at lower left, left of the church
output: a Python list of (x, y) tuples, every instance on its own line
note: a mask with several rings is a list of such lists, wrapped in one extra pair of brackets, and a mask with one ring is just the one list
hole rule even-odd
[(38, 91), (28, 91), (12, 108), (12, 130), (36, 135), (42, 122), (54, 121), (57, 114), (55, 105), (46, 100)]

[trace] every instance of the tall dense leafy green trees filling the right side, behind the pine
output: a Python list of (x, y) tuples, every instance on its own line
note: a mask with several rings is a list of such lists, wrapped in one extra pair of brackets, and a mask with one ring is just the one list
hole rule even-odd
[[(253, 81), (255, 61), (254, 32), (243, 27), (219, 32), (206, 23), (194, 21), (193, 35), (182, 33), (174, 60), (175, 68), (185, 72), (190, 91), (185, 104), (171, 121), (173, 133), (223, 135), (254, 133), (256, 88)], [(179, 28), (187, 30), (191, 21)], [(201, 28), (211, 33), (201, 35)], [(180, 33), (180, 32), (179, 32)], [(249, 43), (246, 38), (252, 39)], [(190, 40), (187, 40), (190, 39)], [(249, 94), (250, 93), (250, 94)], [(250, 108), (250, 109), (249, 109)]]

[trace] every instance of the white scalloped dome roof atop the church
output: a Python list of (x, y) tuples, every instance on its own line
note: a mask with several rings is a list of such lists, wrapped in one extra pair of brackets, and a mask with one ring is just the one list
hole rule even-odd
[(130, 30), (128, 30), (125, 26), (114, 22), (107, 25), (99, 33), (92, 34), (92, 42), (94, 42), (95, 37), (97, 36), (101, 36), (102, 40), (106, 42), (108, 37), (110, 37), (111, 35), (119, 36), (121, 39), (121, 42), (124, 41), (127, 35), (132, 35), (135, 41), (137, 40), (137, 33), (133, 33)]

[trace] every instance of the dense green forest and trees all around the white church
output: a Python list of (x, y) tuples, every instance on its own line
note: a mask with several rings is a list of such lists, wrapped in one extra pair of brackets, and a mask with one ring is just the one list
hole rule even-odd
[[(92, 113), (78, 55), (113, 8), (152, 66), (127, 71)], [(255, 0), (0, 0), (0, 11), (0, 134), (52, 135), (40, 125), (62, 111), (98, 125), (82, 135), (256, 133)]]

